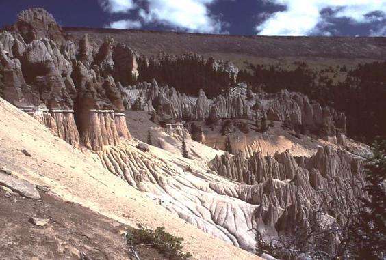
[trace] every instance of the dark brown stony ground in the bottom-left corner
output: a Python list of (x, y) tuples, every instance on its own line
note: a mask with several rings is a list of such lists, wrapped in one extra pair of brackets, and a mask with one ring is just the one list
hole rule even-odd
[[(40, 192), (39, 200), (0, 189), (1, 259), (91, 259), (129, 260), (124, 233), (129, 227), (75, 203)], [(49, 222), (38, 227), (29, 218)], [(140, 259), (166, 260), (157, 250), (139, 248)]]

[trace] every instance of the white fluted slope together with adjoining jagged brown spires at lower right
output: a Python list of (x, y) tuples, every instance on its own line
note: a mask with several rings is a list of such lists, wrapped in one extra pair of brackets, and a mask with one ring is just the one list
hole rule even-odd
[[(121, 144), (98, 154), (112, 173), (148, 192), (180, 218), (246, 250), (255, 248), (254, 230), (266, 240), (290, 235), (325, 201), (339, 198), (344, 210), (357, 196), (365, 196), (361, 161), (331, 147), (320, 148), (311, 158), (294, 158), (288, 152), (249, 159), (226, 154), (211, 162), (212, 171), (176, 163), (170, 154), (149, 149)], [(325, 160), (334, 164), (325, 169), (321, 166)], [(342, 167), (345, 173), (334, 173), (333, 167)], [(339, 225), (344, 220), (336, 214), (323, 216)]]

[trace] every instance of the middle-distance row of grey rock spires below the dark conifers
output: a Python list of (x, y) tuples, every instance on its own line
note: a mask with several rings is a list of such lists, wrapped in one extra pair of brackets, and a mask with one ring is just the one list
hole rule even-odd
[[(193, 121), (203, 121), (210, 115), (211, 119), (255, 119), (256, 115), (266, 112), (268, 120), (285, 121), (289, 128), (300, 127), (304, 131), (319, 134), (324, 139), (336, 136), (335, 143), (345, 144), (346, 117), (330, 107), (310, 102), (301, 93), (281, 91), (279, 93), (252, 94), (247, 98), (245, 84), (231, 87), (228, 94), (207, 98), (205, 91), (200, 89), (197, 98), (179, 93), (174, 87), (159, 87), (157, 81), (138, 83), (123, 88), (125, 107), (140, 98), (142, 109), (157, 110), (162, 106), (164, 113), (171, 117)], [(214, 122), (212, 121), (212, 122)]]

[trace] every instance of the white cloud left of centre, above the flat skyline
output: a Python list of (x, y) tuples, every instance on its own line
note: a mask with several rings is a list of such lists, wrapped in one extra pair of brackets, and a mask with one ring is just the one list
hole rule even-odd
[[(118, 20), (111, 26), (164, 25), (179, 31), (199, 33), (226, 33), (227, 23), (210, 12), (210, 5), (217, 0), (105, 0), (107, 12), (129, 12), (136, 9), (138, 20)], [(138, 8), (138, 5), (142, 8)]]

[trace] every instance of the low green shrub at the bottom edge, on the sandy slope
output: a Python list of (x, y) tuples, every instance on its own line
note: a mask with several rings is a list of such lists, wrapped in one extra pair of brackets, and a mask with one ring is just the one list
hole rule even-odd
[(183, 238), (165, 232), (164, 227), (157, 227), (155, 230), (146, 229), (138, 225), (137, 229), (128, 230), (125, 235), (127, 244), (131, 247), (146, 245), (151, 246), (165, 257), (171, 260), (190, 259), (190, 252), (181, 252)]

